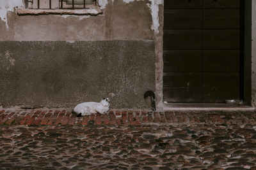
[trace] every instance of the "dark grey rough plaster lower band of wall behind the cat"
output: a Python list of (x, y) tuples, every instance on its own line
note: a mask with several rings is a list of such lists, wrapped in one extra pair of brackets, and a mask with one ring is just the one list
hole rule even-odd
[(0, 105), (72, 107), (110, 97), (111, 108), (150, 108), (154, 41), (0, 41)]

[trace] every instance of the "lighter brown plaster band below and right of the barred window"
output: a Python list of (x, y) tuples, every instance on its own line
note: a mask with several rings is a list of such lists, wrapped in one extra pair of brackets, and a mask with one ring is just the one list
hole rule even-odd
[(26, 15), (8, 11), (0, 20), (0, 41), (83, 41), (154, 39), (148, 1), (108, 1), (103, 15)]

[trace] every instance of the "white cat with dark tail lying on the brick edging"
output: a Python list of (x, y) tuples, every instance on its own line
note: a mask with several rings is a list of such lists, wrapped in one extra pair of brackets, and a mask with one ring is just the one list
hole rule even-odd
[(90, 115), (91, 113), (106, 114), (109, 110), (109, 98), (101, 99), (100, 103), (97, 102), (84, 102), (77, 104), (72, 112), (75, 112), (77, 117)]

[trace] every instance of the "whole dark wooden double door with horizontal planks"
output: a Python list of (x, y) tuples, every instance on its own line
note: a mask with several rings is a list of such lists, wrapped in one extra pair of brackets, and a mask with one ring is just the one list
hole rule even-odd
[(241, 98), (241, 0), (164, 1), (164, 101)]

